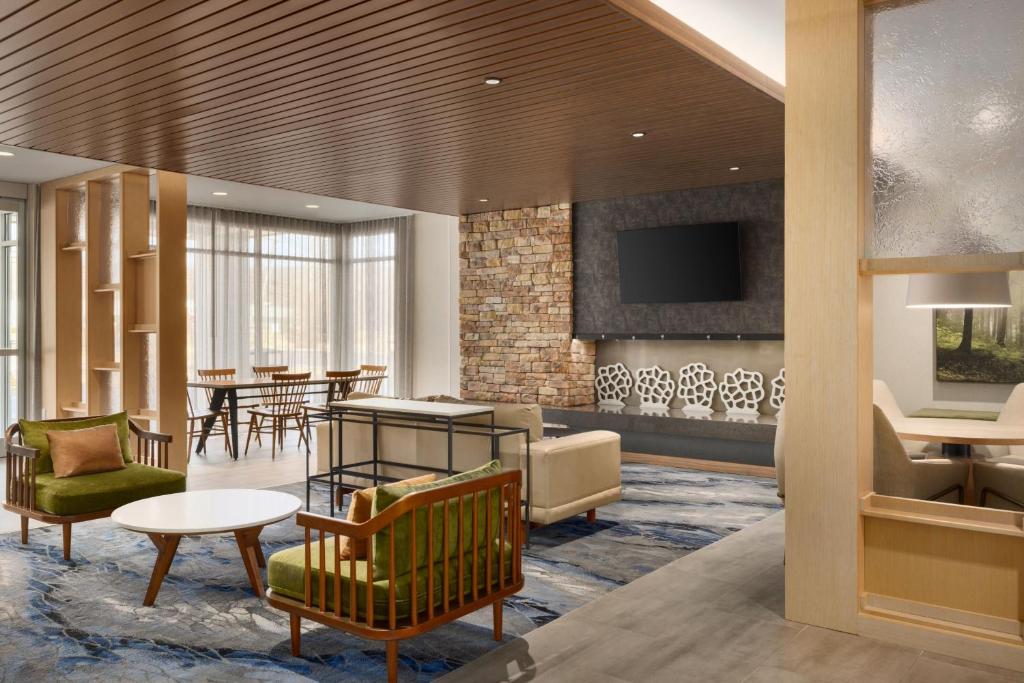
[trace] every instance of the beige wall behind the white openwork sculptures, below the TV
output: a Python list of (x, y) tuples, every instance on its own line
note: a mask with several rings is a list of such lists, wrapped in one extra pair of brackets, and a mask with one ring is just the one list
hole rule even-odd
[[(636, 376), (640, 368), (660, 366), (672, 373), (673, 381), (679, 379), (679, 369), (690, 362), (703, 362), (715, 371), (715, 381), (721, 382), (725, 373), (736, 368), (756, 370), (765, 378), (765, 398), (761, 412), (774, 414), (768, 403), (771, 395), (771, 380), (782, 367), (781, 341), (649, 341), (615, 340), (597, 342), (597, 367), (622, 362)], [(626, 399), (631, 405), (639, 403), (636, 393)], [(673, 401), (677, 408), (678, 399)], [(716, 411), (724, 411), (718, 395), (715, 395)]]

